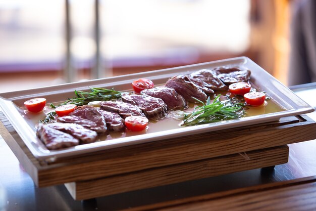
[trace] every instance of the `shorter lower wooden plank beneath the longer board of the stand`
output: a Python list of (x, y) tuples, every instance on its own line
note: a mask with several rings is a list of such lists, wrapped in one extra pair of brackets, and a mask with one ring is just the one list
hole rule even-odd
[(268, 167), (288, 161), (288, 146), (254, 150), (176, 165), (150, 168), (88, 181), (65, 184), (76, 200)]

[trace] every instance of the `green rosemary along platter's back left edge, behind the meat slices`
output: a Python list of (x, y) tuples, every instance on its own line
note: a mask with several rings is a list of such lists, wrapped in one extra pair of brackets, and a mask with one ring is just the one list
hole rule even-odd
[[(121, 98), (121, 92), (115, 91), (114, 89), (104, 89), (104, 88), (90, 88), (90, 92), (85, 91), (77, 91), (75, 90), (74, 98), (69, 98), (64, 103), (59, 105), (49, 104), (50, 108), (57, 108), (62, 105), (67, 104), (75, 104), (77, 106), (87, 105), (89, 102), (92, 101), (109, 101), (112, 99), (119, 99)], [(40, 120), (41, 123), (48, 123), (52, 120), (55, 120), (57, 116), (56, 111), (51, 111), (46, 114), (46, 117), (43, 120)]]

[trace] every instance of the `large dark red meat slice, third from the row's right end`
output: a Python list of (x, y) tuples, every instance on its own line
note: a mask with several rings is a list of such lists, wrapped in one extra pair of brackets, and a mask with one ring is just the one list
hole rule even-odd
[(206, 94), (196, 86), (187, 75), (179, 75), (170, 78), (166, 82), (166, 87), (173, 88), (179, 95), (189, 102), (195, 102), (192, 97), (202, 102), (205, 102), (207, 99)]

